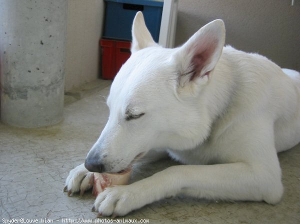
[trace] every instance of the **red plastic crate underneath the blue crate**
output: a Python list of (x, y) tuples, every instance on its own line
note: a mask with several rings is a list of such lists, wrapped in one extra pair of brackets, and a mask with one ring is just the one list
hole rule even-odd
[(113, 79), (122, 64), (130, 57), (131, 43), (101, 39), (100, 46), (102, 49), (102, 78)]

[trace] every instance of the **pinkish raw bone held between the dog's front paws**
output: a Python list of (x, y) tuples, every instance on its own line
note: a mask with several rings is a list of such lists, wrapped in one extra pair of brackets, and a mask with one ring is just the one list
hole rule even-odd
[(120, 174), (93, 173), (94, 184), (92, 188), (92, 195), (97, 196), (108, 187), (128, 184), (130, 174), (131, 169)]

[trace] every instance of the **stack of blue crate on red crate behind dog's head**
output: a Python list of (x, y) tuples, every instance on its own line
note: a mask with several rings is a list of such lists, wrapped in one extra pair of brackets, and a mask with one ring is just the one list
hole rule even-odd
[(104, 0), (105, 17), (102, 49), (102, 78), (113, 79), (130, 57), (131, 26), (137, 11), (144, 15), (153, 39), (158, 42), (163, 1)]

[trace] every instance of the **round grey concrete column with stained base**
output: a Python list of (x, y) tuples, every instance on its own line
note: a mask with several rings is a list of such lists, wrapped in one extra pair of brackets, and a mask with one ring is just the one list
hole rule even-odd
[(63, 116), (67, 0), (0, 0), (0, 111), (19, 127)]

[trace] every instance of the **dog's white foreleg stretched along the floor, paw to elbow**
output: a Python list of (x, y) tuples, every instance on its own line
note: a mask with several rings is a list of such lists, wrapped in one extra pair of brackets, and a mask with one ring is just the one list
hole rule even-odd
[(178, 194), (207, 199), (264, 200), (273, 204), (282, 195), (280, 177), (276, 176), (280, 175), (242, 162), (173, 166), (131, 185), (107, 188), (98, 195), (94, 207), (103, 216), (124, 216)]

